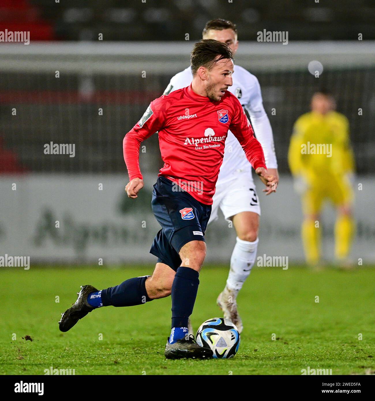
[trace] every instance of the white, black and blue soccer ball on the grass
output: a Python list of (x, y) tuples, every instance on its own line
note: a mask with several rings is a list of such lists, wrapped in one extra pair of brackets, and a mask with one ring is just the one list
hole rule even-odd
[(239, 347), (237, 327), (224, 318), (212, 318), (201, 324), (197, 331), (197, 344), (211, 348), (213, 358), (233, 358)]

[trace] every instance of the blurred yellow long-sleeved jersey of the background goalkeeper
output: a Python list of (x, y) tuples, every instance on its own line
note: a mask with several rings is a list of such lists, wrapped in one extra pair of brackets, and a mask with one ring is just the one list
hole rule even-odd
[(354, 172), (347, 117), (336, 111), (301, 115), (294, 124), (288, 161), (293, 175), (312, 179)]

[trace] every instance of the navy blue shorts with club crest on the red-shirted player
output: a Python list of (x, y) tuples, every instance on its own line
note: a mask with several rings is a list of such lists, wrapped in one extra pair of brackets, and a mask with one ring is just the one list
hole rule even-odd
[[(178, 188), (179, 191), (172, 190)], [(156, 234), (150, 253), (173, 270), (181, 265), (180, 249), (190, 241), (204, 241), (211, 205), (197, 201), (165, 177), (158, 177), (151, 201), (162, 229)]]

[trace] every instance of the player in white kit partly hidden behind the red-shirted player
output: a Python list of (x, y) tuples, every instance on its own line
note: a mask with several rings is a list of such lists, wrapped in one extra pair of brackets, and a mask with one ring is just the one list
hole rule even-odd
[[(226, 43), (233, 55), (237, 51), (237, 28), (235, 24), (223, 19), (207, 22), (203, 30), (203, 39), (215, 39)], [(274, 149), (272, 128), (263, 107), (260, 86), (257, 78), (239, 65), (234, 66), (233, 85), (228, 90), (241, 102), (249, 112), (251, 125), (259, 140), (266, 160), (268, 174), (278, 181), (277, 161)], [(164, 95), (176, 89), (189, 86), (193, 80), (190, 67), (174, 75)], [(276, 192), (276, 185), (267, 192)], [(237, 294), (250, 274), (255, 262), (258, 245), (258, 227), (260, 207), (251, 173), (251, 164), (247, 161), (245, 152), (237, 138), (228, 131), (225, 142), (223, 164), (220, 168), (213, 196), (210, 221), (217, 219), (218, 209), (221, 209), (226, 220), (233, 221), (237, 233), (236, 245), (231, 256), (231, 265), (227, 284), (217, 298), (217, 304), (223, 310), (224, 318), (231, 320), (239, 332), (243, 325), (237, 311)]]

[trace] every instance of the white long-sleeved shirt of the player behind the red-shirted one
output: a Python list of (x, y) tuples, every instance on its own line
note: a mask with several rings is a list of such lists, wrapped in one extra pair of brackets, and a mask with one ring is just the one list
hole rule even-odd
[[(272, 128), (263, 107), (260, 85), (257, 78), (243, 67), (235, 65), (232, 79), (233, 85), (228, 88), (228, 91), (233, 93), (242, 107), (245, 107), (248, 111), (255, 136), (263, 148), (266, 166), (268, 168), (277, 168)], [(193, 74), (191, 68), (187, 67), (184, 71), (172, 77), (168, 87), (164, 91), (164, 95), (189, 86), (191, 81), (193, 81)], [(245, 152), (237, 138), (228, 131), (228, 136), (225, 140), (223, 164), (220, 168), (217, 185), (231, 180), (235, 173), (241, 170), (251, 171), (251, 164), (247, 160)]]

